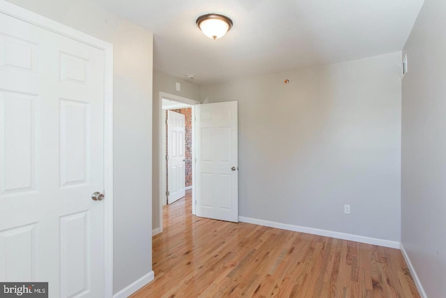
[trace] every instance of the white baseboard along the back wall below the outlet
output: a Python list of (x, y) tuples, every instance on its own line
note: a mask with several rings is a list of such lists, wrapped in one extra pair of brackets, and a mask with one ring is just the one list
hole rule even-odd
[(354, 234), (346, 234), (341, 232), (334, 232), (329, 230), (321, 230), (315, 228), (301, 227), (300, 225), (289, 225), (287, 223), (276, 223), (274, 221), (263, 221), (262, 219), (249, 218), (244, 216), (239, 216), (238, 221), (243, 223), (254, 223), (255, 225), (264, 225), (270, 228), (277, 228), (282, 230), (289, 230), (294, 232), (303, 232), (307, 234), (315, 234), (319, 236), (332, 237), (337, 239), (344, 239), (348, 241), (362, 242), (365, 244), (372, 244), (378, 246), (385, 246), (390, 248), (399, 248), (400, 243), (398, 241), (391, 241), (385, 239), (371, 238), (365, 236), (359, 236)]

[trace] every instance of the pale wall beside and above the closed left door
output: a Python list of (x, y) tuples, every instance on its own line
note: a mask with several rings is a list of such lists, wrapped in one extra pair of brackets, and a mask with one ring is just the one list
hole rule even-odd
[(10, 0), (114, 45), (114, 292), (152, 270), (153, 35), (87, 0)]

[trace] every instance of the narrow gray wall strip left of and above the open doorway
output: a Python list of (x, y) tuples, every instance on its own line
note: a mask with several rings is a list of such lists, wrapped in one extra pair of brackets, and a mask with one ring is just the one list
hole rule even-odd
[[(181, 84), (181, 91), (176, 91), (176, 82)], [(162, 73), (160, 70), (153, 70), (153, 229), (160, 228), (160, 92), (192, 100), (200, 100), (200, 87), (198, 84)]]

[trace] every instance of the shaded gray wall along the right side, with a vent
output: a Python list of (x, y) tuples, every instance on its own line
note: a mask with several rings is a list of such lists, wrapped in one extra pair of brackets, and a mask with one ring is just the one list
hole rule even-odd
[(445, 13), (426, 0), (403, 50), (401, 241), (428, 297), (446, 295)]

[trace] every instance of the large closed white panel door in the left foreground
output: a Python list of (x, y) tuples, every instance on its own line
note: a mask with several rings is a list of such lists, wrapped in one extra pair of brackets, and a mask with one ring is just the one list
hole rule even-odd
[(0, 281), (105, 295), (104, 63), (0, 13)]

